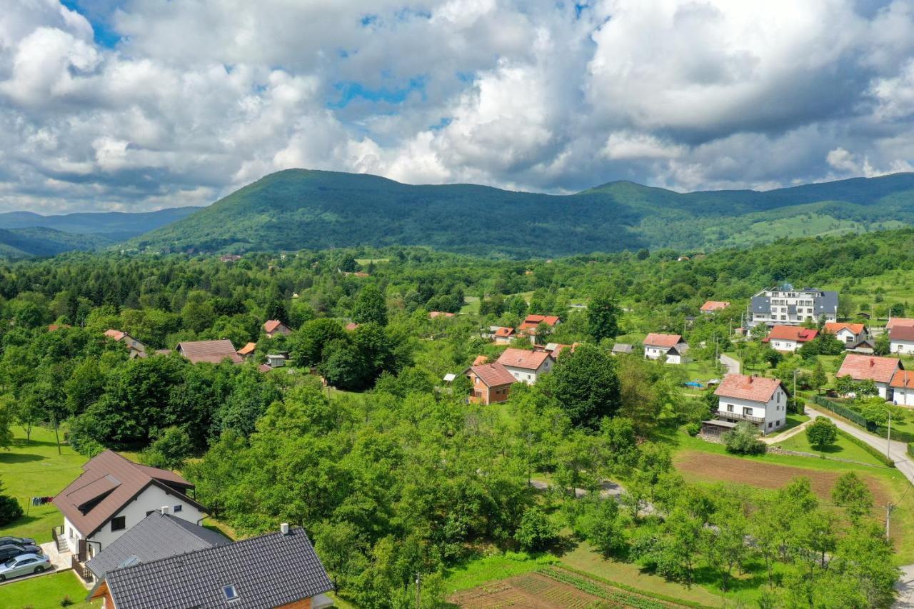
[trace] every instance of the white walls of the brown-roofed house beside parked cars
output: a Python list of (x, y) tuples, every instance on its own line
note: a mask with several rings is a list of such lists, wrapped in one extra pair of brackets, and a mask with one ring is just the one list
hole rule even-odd
[[(169, 514), (195, 524), (199, 524), (200, 520), (207, 516), (193, 505), (187, 503), (184, 497), (175, 494), (175, 492), (166, 493), (161, 486), (146, 486), (138, 496), (121, 508), (111, 520), (101, 525), (101, 529), (87, 538), (86, 547), (89, 557), (91, 558), (107, 548), (108, 544), (112, 543), (113, 540), (121, 537), (134, 525), (138, 524), (140, 520), (146, 518), (149, 512), (165, 506), (168, 507)], [(124, 518), (123, 529), (112, 530), (112, 521), (118, 517)], [(66, 517), (63, 519), (63, 525), (63, 534), (67, 539), (69, 550), (75, 554), (79, 551), (79, 544), (80, 540), (83, 539), (83, 535)]]

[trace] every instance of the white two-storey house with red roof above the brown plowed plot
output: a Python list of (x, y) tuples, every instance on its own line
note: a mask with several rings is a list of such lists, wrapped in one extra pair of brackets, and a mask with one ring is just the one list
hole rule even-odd
[(720, 421), (748, 421), (761, 433), (774, 432), (787, 422), (790, 394), (779, 379), (728, 374), (714, 395), (718, 398), (716, 414)]

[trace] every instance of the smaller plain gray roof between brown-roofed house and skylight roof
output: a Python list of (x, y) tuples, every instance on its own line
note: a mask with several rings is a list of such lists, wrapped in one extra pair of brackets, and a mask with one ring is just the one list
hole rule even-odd
[(86, 566), (101, 579), (131, 558), (134, 563), (156, 561), (230, 542), (216, 531), (155, 511), (101, 550)]

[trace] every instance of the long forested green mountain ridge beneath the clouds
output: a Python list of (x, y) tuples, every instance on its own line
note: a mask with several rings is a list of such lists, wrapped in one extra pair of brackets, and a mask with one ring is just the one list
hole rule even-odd
[(765, 192), (676, 193), (611, 182), (574, 195), (474, 185), (409, 186), (290, 169), (131, 241), (155, 251), (426, 245), (504, 256), (638, 248), (710, 250), (914, 223), (914, 174)]

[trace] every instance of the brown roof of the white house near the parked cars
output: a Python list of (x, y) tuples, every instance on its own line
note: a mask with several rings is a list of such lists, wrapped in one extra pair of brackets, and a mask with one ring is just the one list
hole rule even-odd
[(182, 501), (200, 510), (204, 509), (190, 497), (182, 495), (194, 485), (180, 475), (135, 464), (112, 451), (104, 451), (92, 457), (82, 466), (82, 472), (80, 477), (54, 497), (54, 505), (84, 537), (90, 537), (101, 529), (149, 485), (160, 486), (181, 497)]

